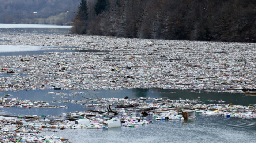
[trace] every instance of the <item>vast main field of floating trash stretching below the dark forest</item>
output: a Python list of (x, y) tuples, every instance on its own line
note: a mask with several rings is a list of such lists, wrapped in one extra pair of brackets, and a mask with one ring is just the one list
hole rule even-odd
[(255, 43), (33, 33), (0, 33), (0, 37), (0, 45), (56, 49), (44, 55), (0, 57), (1, 74), (11, 74), (1, 76), (1, 91), (54, 87), (64, 90), (193, 89), (198, 92), (256, 89)]

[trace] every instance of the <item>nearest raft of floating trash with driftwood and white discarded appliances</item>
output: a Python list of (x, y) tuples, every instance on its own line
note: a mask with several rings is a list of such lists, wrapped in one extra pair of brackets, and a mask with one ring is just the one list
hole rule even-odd
[(83, 103), (86, 108), (90, 109), (52, 116), (0, 115), (0, 140), (5, 143), (70, 143), (62, 137), (44, 136), (44, 132), (77, 128), (98, 130), (115, 127), (136, 128), (153, 124), (154, 120), (191, 120), (196, 117), (196, 114), (245, 119), (256, 118), (256, 104), (241, 106), (231, 103), (223, 104), (224, 102), (206, 105), (199, 100), (143, 97), (80, 100), (76, 104)]

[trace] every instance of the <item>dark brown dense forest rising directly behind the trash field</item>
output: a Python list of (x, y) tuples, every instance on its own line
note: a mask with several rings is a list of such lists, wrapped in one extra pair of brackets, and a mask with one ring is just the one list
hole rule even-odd
[[(108, 6), (97, 6), (103, 2)], [(76, 17), (72, 33), (175, 40), (256, 40), (256, 0), (87, 0), (87, 12), (83, 23), (86, 28), (79, 28)]]

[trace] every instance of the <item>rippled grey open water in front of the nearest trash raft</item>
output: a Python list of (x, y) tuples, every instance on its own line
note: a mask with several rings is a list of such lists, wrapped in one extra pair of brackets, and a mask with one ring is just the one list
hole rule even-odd
[[(108, 130), (59, 130), (54, 135), (68, 138), (73, 143), (168, 143), (168, 142), (254, 142), (256, 125), (251, 124), (253, 120), (231, 119), (223, 117), (209, 117), (196, 115), (195, 121), (153, 120), (153, 124), (139, 126), (138, 128), (113, 128)], [(230, 127), (230, 125), (241, 124), (242, 127)], [(52, 132), (48, 133), (49, 135)]]

